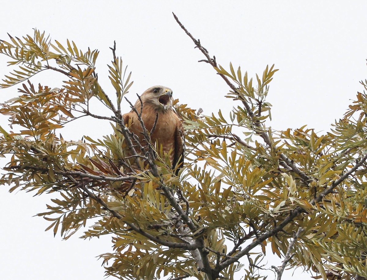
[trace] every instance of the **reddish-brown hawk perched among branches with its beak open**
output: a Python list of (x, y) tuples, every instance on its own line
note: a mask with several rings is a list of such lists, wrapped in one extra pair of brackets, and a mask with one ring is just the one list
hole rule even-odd
[[(183, 164), (185, 136), (181, 121), (172, 108), (172, 90), (166, 86), (152, 86), (143, 92), (140, 98), (143, 103), (141, 118), (148, 132), (152, 130), (158, 113), (156, 127), (152, 135), (150, 135), (150, 139), (153, 144), (157, 141), (158, 148), (162, 145), (164, 153), (168, 154), (171, 151), (170, 163), (172, 169), (178, 167), (176, 170), (177, 175), (179, 168)], [(140, 113), (141, 102), (139, 99), (134, 107)], [(124, 114), (122, 117), (126, 125), (130, 124), (130, 132), (137, 135), (141, 145), (145, 146), (146, 142), (143, 140), (144, 136), (141, 133), (141, 123), (134, 110)]]

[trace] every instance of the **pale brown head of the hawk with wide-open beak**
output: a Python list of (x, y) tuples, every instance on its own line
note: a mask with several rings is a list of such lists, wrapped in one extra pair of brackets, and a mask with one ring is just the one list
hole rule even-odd
[[(141, 100), (143, 106), (150, 106), (156, 111), (170, 111), (172, 110), (172, 89), (161, 85), (152, 86), (143, 92)], [(138, 109), (139, 107), (140, 102), (138, 100), (137, 104), (135, 104), (135, 108)]]

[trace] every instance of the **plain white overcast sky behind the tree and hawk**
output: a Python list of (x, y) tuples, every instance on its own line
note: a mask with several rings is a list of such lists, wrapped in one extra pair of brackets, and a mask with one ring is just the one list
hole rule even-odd
[[(226, 69), (231, 61), (254, 77), (275, 63), (280, 70), (268, 96), (273, 129), (308, 124), (328, 131), (349, 100), (363, 91), (359, 81), (367, 78), (366, 9), (366, 1), (2, 1), (0, 38), (8, 40), (7, 32), (32, 35), (36, 27), (62, 44), (68, 38), (80, 49), (97, 48), (97, 73), (112, 93), (106, 64), (116, 40), (117, 54), (132, 71), (133, 102), (135, 93), (166, 85), (180, 103), (201, 107), (204, 114), (221, 109), (228, 115), (240, 104), (224, 97), (228, 87), (210, 65), (197, 63), (204, 57), (177, 25), (173, 11)], [(6, 61), (0, 56), (1, 76), (10, 70)], [(62, 74), (43, 72), (31, 81), (53, 88), (62, 80)], [(0, 102), (16, 95), (17, 87), (3, 89)], [(8, 129), (6, 118), (1, 117), (0, 124)], [(81, 119), (61, 133), (76, 140), (111, 131), (104, 122)], [(54, 238), (51, 231), (44, 232), (48, 221), (32, 217), (46, 209), (51, 197), (9, 194), (7, 189), (0, 188), (1, 279), (103, 279), (104, 269), (95, 256), (112, 250), (110, 237)], [(268, 265), (273, 264), (270, 259)], [(310, 279), (301, 272), (295, 276)], [(291, 277), (288, 273), (283, 279)]]

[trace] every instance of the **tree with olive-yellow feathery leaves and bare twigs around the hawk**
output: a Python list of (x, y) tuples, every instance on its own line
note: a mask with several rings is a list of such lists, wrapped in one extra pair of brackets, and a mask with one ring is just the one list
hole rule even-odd
[[(254, 82), (240, 67), (230, 64), (227, 71), (175, 19), (205, 56), (201, 61), (228, 84), (236, 106), (228, 117), (208, 116), (176, 102), (186, 133), (179, 176), (155, 143), (135, 151), (121, 112), (131, 73), (116, 45), (112, 98), (98, 83), (97, 50), (80, 51), (69, 40), (63, 47), (34, 30), (33, 37), (10, 36), (0, 44), (9, 65), (19, 67), (1, 86), (21, 85), (21, 95), (0, 110), (14, 130), (0, 128), (1, 155), (8, 159), (1, 184), (37, 195), (57, 192), (39, 214), (55, 235), (68, 239), (87, 223), (92, 228), (84, 238), (112, 235), (114, 252), (101, 258), (106, 275), (120, 279), (233, 279), (239, 270), (244, 279), (261, 279), (268, 243), (283, 257), (283, 265), (273, 267), (278, 279), (287, 265), (313, 270), (315, 278), (367, 277), (367, 95), (358, 93), (324, 135), (305, 126), (273, 130), (266, 126), (266, 97), (274, 66)], [(34, 86), (29, 78), (43, 70), (68, 80), (61, 89)], [(361, 84), (367, 89), (367, 80)], [(92, 113), (93, 100), (112, 116)], [(56, 131), (81, 117), (110, 122), (112, 134), (65, 140)], [(143, 136), (149, 140), (148, 131)]]

